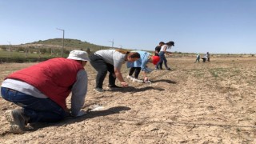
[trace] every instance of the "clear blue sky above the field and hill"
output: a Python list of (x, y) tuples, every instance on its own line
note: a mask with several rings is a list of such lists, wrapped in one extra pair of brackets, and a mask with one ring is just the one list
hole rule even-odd
[(256, 0), (0, 0), (0, 45), (74, 38), (100, 46), (256, 53)]

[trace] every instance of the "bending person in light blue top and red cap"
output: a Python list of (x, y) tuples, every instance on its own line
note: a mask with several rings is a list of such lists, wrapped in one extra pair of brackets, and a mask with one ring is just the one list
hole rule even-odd
[[(138, 54), (140, 54), (140, 58), (135, 62), (126, 63), (127, 67), (130, 68), (129, 75), (126, 78), (130, 78), (133, 82), (147, 82), (149, 78), (146, 77), (146, 74), (150, 73), (152, 70), (150, 70), (150, 68), (148, 68), (146, 64), (148, 62), (152, 62), (154, 65), (156, 65), (159, 62), (160, 58), (142, 50), (136, 50), (132, 52), (137, 52)], [(138, 79), (138, 74), (141, 70), (144, 77), (143, 81)], [(132, 76), (133, 74), (134, 77)]]

